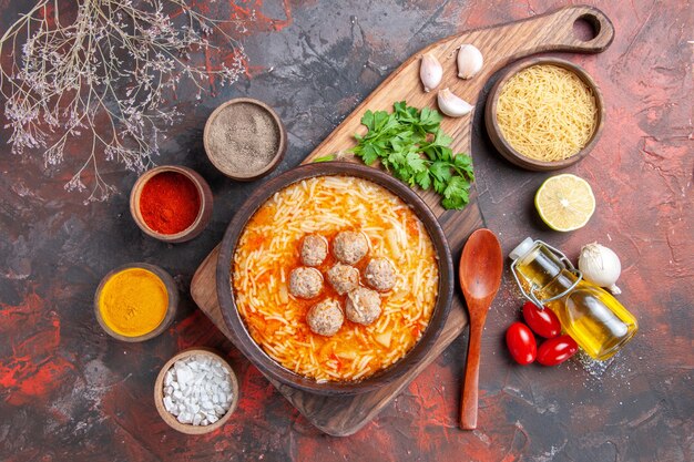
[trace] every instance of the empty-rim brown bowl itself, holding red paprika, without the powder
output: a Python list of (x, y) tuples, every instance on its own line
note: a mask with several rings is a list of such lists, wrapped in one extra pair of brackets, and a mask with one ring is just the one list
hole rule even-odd
[[(197, 189), (197, 194), (200, 195), (200, 212), (197, 213), (197, 217), (191, 226), (186, 229), (183, 229), (181, 233), (176, 234), (162, 234), (157, 233), (154, 229), (150, 228), (142, 217), (142, 213), (140, 212), (140, 195), (142, 194), (142, 188), (144, 185), (154, 176), (163, 172), (176, 172), (185, 177), (187, 177)], [(161, 165), (159, 167), (154, 167), (152, 170), (143, 173), (135, 184), (133, 185), (133, 189), (130, 193), (130, 214), (132, 215), (135, 224), (146, 234), (147, 236), (152, 236), (155, 239), (163, 240), (165, 243), (184, 243), (186, 240), (191, 240), (198, 234), (205, 229), (210, 219), (212, 218), (212, 191), (210, 189), (210, 185), (197, 172), (192, 168), (184, 167), (181, 165)]]

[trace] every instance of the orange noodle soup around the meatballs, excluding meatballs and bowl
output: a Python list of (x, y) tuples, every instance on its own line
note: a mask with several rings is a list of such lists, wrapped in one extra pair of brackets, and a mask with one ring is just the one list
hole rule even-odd
[[(318, 296), (295, 297), (289, 275), (302, 267), (308, 235), (330, 243), (315, 269), (326, 275), (337, 261), (338, 233), (366, 236), (368, 255), (354, 267), (365, 285), (371, 258), (396, 268), (395, 286), (379, 292), (380, 315), (370, 325), (345, 318), (336, 333), (317, 335), (307, 324), (316, 304), (346, 296), (324, 284)], [(388, 368), (417, 345), (438, 297), (435, 247), (415, 212), (388, 189), (354, 176), (319, 176), (295, 183), (263, 204), (241, 234), (232, 263), (235, 305), (253, 339), (284, 368), (324, 381), (357, 381)]]

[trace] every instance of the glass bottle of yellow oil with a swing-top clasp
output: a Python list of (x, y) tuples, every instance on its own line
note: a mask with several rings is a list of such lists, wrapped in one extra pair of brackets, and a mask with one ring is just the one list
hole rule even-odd
[(588, 355), (605, 360), (639, 330), (636, 318), (616, 298), (586, 280), (560, 250), (528, 237), (509, 256), (523, 296), (559, 317), (562, 329)]

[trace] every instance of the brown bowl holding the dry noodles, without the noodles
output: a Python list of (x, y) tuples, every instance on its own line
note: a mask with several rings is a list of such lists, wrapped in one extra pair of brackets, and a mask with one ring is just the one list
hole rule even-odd
[[(499, 101), (499, 94), (501, 93), (501, 89), (503, 88), (503, 85), (518, 72), (538, 64), (552, 64), (573, 72), (579, 76), (579, 79), (583, 81), (583, 83), (588, 85), (589, 89), (591, 89), (593, 95), (595, 96), (595, 105), (598, 106), (598, 123), (595, 125), (595, 130), (593, 131), (591, 138), (581, 151), (579, 151), (571, 157), (564, 158), (563, 161), (544, 162), (522, 155), (521, 153), (516, 151), (508, 141), (506, 141), (503, 134), (501, 133), (501, 129), (497, 123), (497, 104)], [(600, 135), (602, 134), (602, 126), (605, 117), (604, 112), (605, 110), (604, 102), (602, 100), (602, 93), (600, 92), (600, 89), (598, 88), (593, 79), (588, 74), (588, 72), (585, 72), (583, 68), (558, 58), (530, 58), (525, 60), (520, 60), (509, 66), (506, 71), (506, 74), (494, 84), (494, 86), (492, 86), (491, 91), (489, 92), (489, 96), (487, 97), (487, 106), (484, 109), (484, 125), (487, 126), (487, 133), (489, 133), (489, 138), (491, 140), (492, 144), (494, 145), (497, 151), (499, 151), (499, 153), (509, 162), (525, 170), (545, 172), (567, 168), (568, 166), (581, 161), (588, 155), (588, 153), (591, 152), (591, 150), (598, 143)]]

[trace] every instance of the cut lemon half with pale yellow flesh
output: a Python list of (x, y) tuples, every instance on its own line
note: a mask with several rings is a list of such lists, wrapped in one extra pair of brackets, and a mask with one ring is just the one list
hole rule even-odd
[(571, 174), (550, 176), (535, 193), (540, 218), (552, 229), (570, 232), (585, 226), (595, 212), (591, 185)]

